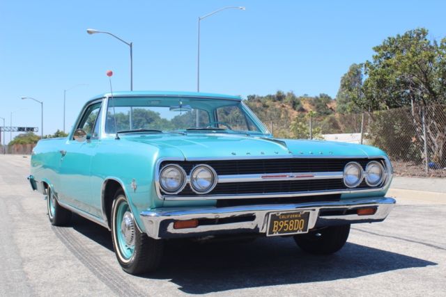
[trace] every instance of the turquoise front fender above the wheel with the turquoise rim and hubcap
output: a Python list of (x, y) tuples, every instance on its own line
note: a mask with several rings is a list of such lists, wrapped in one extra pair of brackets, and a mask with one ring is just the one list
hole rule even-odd
[[(155, 191), (155, 168), (163, 157), (184, 159), (175, 148), (148, 145), (146, 143), (102, 141), (91, 163), (91, 186), (94, 202), (104, 220), (107, 220), (105, 185), (114, 180), (121, 185), (139, 229), (144, 232), (139, 214), (147, 209), (162, 207), (164, 201)], [(97, 198), (95, 198), (97, 197)]]

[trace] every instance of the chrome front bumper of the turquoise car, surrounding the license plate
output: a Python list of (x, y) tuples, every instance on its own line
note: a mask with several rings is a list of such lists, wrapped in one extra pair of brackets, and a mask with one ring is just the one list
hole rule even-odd
[[(266, 233), (268, 214), (285, 211), (309, 211), (309, 230), (330, 225), (371, 223), (384, 220), (394, 207), (392, 198), (360, 198), (335, 202), (299, 204), (265, 204), (240, 207), (181, 207), (142, 211), (141, 220), (146, 233), (153, 239), (202, 237), (218, 234)], [(358, 216), (358, 208), (376, 207), (375, 214)], [(249, 218), (245, 220), (244, 218)], [(174, 229), (176, 220), (198, 219), (214, 223), (187, 229)], [(220, 220), (220, 223), (219, 223)]]

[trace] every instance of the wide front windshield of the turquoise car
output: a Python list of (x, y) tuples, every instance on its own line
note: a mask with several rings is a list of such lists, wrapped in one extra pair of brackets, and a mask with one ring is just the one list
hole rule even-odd
[(134, 130), (268, 133), (252, 112), (235, 100), (179, 97), (110, 98), (105, 132), (114, 134), (116, 131)]

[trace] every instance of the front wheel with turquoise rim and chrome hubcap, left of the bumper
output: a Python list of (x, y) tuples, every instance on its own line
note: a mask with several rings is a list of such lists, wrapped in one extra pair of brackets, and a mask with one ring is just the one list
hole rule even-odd
[(116, 192), (112, 206), (112, 241), (125, 272), (137, 275), (155, 271), (160, 265), (163, 241), (139, 232), (122, 190)]

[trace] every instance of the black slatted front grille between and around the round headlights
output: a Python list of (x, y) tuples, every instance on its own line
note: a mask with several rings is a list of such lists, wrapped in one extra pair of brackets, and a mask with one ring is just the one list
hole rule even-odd
[[(214, 168), (217, 175), (249, 175), (274, 174), (284, 172), (342, 172), (348, 162), (360, 163), (363, 169), (369, 161), (383, 161), (383, 159), (335, 159), (335, 158), (290, 158), (290, 159), (246, 159), (222, 161), (163, 161), (160, 167), (168, 163), (176, 163), (189, 174), (199, 164), (206, 164)], [(371, 188), (363, 181), (357, 189)], [(349, 190), (339, 179), (307, 179), (282, 180), (261, 182), (225, 182), (215, 186), (207, 195), (243, 195), (243, 194), (270, 194), (270, 193), (310, 193), (316, 191), (342, 191)], [(328, 192), (329, 193), (329, 192)], [(178, 196), (197, 196), (187, 185), (177, 194)]]

